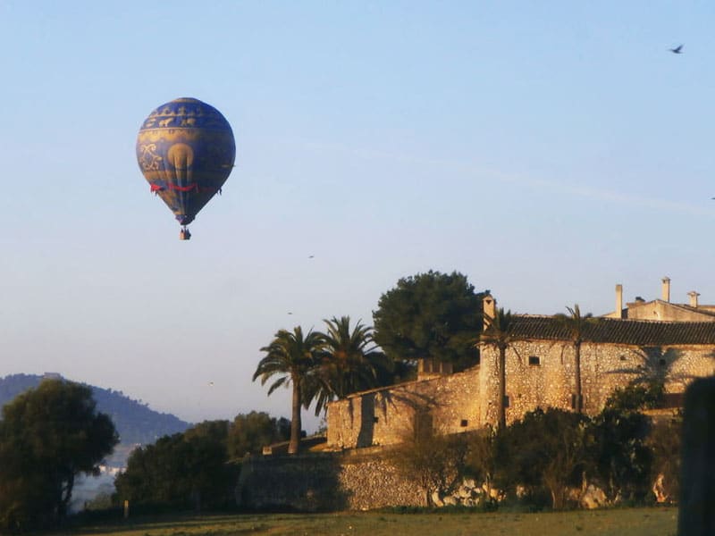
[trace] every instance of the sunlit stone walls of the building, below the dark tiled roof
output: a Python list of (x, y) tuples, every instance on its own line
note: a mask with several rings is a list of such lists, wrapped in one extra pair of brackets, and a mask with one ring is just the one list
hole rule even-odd
[[(497, 352), (483, 348), (481, 364), (463, 373), (357, 393), (328, 406), (328, 448), (392, 445), (429, 425), (442, 433), (496, 424)], [(697, 377), (715, 373), (712, 345), (661, 346), (584, 343), (584, 411), (596, 415), (613, 389), (650, 376), (666, 378), (669, 393), (683, 393)], [(568, 341), (515, 343), (507, 352), (507, 421), (536, 407), (572, 408), (576, 393), (574, 348)]]

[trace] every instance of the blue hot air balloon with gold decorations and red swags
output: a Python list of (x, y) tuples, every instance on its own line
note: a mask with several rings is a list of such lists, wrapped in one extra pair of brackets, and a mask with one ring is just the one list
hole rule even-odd
[(159, 106), (139, 129), (139, 168), (181, 224), (182, 240), (191, 238), (186, 226), (198, 211), (221, 192), (235, 158), (229, 121), (196, 98)]

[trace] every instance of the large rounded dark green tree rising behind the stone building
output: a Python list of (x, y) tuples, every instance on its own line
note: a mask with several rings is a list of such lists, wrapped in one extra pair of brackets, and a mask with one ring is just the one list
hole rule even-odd
[(476, 363), (482, 297), (458, 272), (402, 278), (373, 311), (374, 341), (393, 360), (439, 359), (462, 370)]

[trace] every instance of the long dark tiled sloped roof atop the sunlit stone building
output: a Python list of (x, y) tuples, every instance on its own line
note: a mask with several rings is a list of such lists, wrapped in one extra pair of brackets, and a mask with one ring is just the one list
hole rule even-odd
[[(527, 340), (568, 340), (568, 331), (553, 316), (515, 315), (514, 333)], [(715, 345), (715, 322), (659, 322), (597, 318), (585, 340), (635, 346)]]

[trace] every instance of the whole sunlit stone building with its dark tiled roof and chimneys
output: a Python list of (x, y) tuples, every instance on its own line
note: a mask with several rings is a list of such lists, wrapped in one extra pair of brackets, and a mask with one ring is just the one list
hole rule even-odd
[[(662, 299), (623, 306), (616, 287), (616, 309), (585, 333), (581, 347), (584, 411), (601, 411), (610, 392), (630, 381), (665, 381), (669, 402), (677, 406), (687, 383), (715, 373), (715, 306), (670, 303), (670, 281)], [(493, 316), (496, 300), (484, 297)], [(507, 421), (536, 407), (574, 406), (574, 348), (553, 316), (520, 314), (515, 341), (507, 351)], [(440, 433), (472, 431), (495, 424), (498, 397), (497, 354), (482, 348), (480, 364), (461, 373), (426, 361), (416, 381), (356, 393), (328, 406), (328, 448), (363, 448), (399, 443), (406, 434), (430, 427)]]

